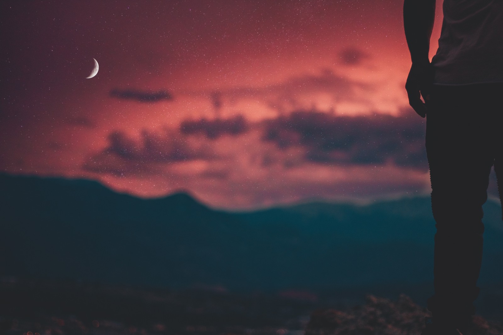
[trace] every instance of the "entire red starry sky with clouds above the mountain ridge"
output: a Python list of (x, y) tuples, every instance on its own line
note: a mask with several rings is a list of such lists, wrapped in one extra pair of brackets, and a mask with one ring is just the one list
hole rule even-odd
[(236, 210), (429, 192), (401, 0), (0, 6), (5, 173)]

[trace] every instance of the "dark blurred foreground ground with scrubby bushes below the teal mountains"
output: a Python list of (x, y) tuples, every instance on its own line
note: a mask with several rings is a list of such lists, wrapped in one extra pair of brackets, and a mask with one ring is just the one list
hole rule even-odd
[[(0, 293), (0, 333), (7, 335), (412, 335), (429, 315), (403, 294), (394, 300), (366, 295), (352, 305), (309, 292), (175, 292), (15, 278), (4, 278)], [(501, 322), (479, 315), (475, 321), (472, 335), (503, 333)]]

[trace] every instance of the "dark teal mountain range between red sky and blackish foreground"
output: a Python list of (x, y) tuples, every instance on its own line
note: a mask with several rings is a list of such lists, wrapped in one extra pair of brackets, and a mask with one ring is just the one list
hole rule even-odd
[[(0, 175), (0, 275), (172, 288), (326, 289), (432, 280), (429, 198), (213, 210), (88, 180)], [(500, 283), (500, 207), (485, 207), (479, 283)]]

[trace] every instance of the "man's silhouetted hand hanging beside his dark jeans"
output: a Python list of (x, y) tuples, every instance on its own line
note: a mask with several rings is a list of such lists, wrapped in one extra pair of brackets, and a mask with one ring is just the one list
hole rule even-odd
[(429, 61), (412, 63), (407, 81), (405, 82), (409, 105), (422, 118), (426, 116), (427, 109), (426, 104), (421, 101), (421, 96), (423, 96), (425, 102), (430, 100), (433, 76), (433, 66)]

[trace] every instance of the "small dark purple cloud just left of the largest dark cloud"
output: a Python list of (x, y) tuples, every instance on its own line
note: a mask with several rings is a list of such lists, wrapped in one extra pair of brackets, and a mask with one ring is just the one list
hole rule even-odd
[(184, 120), (180, 124), (183, 134), (205, 134), (207, 138), (214, 139), (223, 134), (238, 135), (248, 130), (248, 122), (241, 115), (228, 119), (216, 118), (214, 120)]

